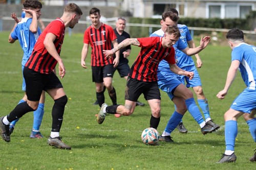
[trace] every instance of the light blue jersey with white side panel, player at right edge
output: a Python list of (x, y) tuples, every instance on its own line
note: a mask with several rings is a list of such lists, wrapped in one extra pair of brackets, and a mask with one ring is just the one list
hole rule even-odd
[(239, 60), (239, 70), (245, 85), (255, 90), (256, 82), (256, 47), (247, 43), (241, 43), (234, 47), (231, 53), (231, 60)]

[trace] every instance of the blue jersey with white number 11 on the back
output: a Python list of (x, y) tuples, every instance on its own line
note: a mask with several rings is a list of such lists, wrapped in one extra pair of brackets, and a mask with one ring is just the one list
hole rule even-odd
[(15, 40), (19, 40), (19, 44), (22, 47), (24, 52), (22, 65), (24, 66), (30, 57), (34, 45), (41, 34), (41, 30), (38, 27), (37, 33), (33, 34), (29, 27), (31, 25), (32, 18), (23, 18), (20, 22), (18, 22), (14, 31), (11, 33), (11, 37)]

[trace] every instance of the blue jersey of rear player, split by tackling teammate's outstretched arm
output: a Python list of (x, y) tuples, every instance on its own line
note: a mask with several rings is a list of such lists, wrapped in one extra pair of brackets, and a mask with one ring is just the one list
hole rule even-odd
[[(191, 41), (192, 40), (190, 32), (189, 32), (189, 30), (188, 30), (186, 25), (178, 24), (178, 28), (179, 28), (180, 34), (181, 34), (180, 39), (187, 46), (187, 41)], [(190, 66), (190, 65), (195, 65), (192, 57), (190, 57), (190, 56), (186, 55), (185, 53), (183, 53), (182, 51), (180, 51), (179, 48), (178, 47), (175, 48), (176, 59), (178, 60), (178, 63), (176, 63), (176, 64), (180, 68), (183, 68), (183, 67), (186, 67), (186, 66)]]

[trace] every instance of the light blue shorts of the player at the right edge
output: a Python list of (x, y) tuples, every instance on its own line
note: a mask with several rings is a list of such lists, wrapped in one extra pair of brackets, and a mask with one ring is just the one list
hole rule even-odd
[(247, 87), (233, 101), (230, 108), (237, 110), (237, 111), (241, 111), (243, 113), (250, 113), (251, 110), (256, 109), (255, 96), (256, 96), (256, 90), (251, 90), (251, 89), (249, 89), (249, 87)]

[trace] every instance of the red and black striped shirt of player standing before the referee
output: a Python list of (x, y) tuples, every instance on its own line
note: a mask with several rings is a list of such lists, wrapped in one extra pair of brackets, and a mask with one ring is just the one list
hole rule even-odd
[(99, 29), (90, 26), (83, 36), (83, 43), (91, 44), (91, 65), (104, 66), (113, 64), (113, 59), (106, 59), (103, 50), (111, 50), (112, 41), (117, 39), (111, 26), (101, 24)]

